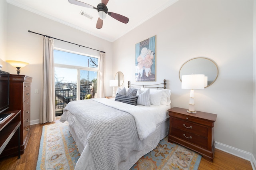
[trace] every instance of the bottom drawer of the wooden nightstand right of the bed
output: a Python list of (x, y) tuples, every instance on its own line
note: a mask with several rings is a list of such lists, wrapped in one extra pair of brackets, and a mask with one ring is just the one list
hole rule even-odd
[(191, 142), (193, 144), (196, 144), (202, 148), (207, 149), (207, 138), (204, 138), (202, 136), (196, 135), (194, 133), (187, 132), (185, 130), (181, 130), (179, 128), (172, 127), (172, 134), (173, 136), (176, 136), (178, 138), (181, 138), (182, 140), (186, 140), (188, 142)]

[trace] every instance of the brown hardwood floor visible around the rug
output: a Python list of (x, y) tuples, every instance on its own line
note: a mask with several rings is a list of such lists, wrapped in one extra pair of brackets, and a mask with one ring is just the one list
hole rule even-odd
[[(18, 156), (1, 158), (0, 170), (36, 170), (42, 126), (52, 123), (32, 125), (31, 136), (24, 154), (20, 159), (17, 159)], [(252, 166), (250, 161), (215, 149), (213, 162), (202, 158), (198, 170), (252, 170)]]

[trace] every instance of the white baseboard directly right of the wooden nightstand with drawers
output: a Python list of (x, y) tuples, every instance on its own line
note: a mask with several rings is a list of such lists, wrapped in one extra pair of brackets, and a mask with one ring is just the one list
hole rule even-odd
[(228, 146), (220, 142), (215, 142), (215, 148), (248, 161), (252, 160), (252, 153), (240, 150), (238, 148), (234, 148), (232, 146)]

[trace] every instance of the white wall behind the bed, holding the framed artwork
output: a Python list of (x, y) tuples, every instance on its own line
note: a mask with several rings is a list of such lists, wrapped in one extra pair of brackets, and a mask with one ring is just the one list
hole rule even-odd
[(218, 79), (195, 90), (196, 110), (218, 115), (217, 142), (252, 153), (253, 0), (179, 0), (144, 22), (113, 43), (113, 71), (122, 71), (125, 82), (134, 83), (135, 44), (154, 35), (156, 83), (167, 80), (172, 107), (188, 108), (181, 65), (194, 57), (214, 60)]

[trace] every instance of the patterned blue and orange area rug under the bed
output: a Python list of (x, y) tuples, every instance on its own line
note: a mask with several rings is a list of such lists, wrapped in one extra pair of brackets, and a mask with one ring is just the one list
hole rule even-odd
[[(73, 170), (79, 157), (67, 122), (43, 126), (37, 170)], [(166, 136), (131, 170), (197, 170), (201, 157), (194, 151), (168, 142)]]

